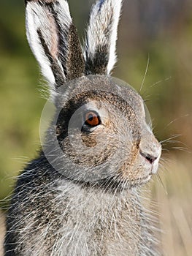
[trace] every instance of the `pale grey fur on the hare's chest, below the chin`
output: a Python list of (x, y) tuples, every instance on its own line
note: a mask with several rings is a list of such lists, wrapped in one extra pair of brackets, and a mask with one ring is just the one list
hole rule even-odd
[(141, 255), (142, 218), (133, 195), (72, 190), (57, 198), (58, 205), (65, 200), (51, 255)]

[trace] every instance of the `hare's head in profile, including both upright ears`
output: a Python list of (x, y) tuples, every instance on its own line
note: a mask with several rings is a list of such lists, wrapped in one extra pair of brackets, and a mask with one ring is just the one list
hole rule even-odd
[(93, 6), (82, 48), (65, 0), (26, 1), (28, 42), (56, 113), (43, 151), (73, 181), (136, 187), (158, 169), (161, 145), (142, 97), (112, 78), (120, 0)]

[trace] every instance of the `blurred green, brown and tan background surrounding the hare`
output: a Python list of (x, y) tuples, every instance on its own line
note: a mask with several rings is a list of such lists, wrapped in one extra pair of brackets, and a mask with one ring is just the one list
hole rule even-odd
[[(92, 4), (92, 0), (69, 0), (80, 39)], [(1, 1), (1, 238), (4, 198), (9, 198), (19, 171), (37, 154), (45, 105), (39, 94), (43, 84), (39, 67), (26, 41), (24, 12), (22, 0)], [(113, 75), (137, 91), (145, 77), (141, 94), (155, 135), (164, 141), (159, 177), (150, 186), (164, 230), (160, 237), (164, 255), (191, 256), (192, 1), (124, 0), (117, 46), (119, 61)]]

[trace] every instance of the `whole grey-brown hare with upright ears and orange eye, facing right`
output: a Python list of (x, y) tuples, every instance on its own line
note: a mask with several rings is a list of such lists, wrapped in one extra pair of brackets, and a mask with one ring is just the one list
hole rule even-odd
[(4, 255), (159, 255), (140, 187), (161, 145), (144, 102), (112, 78), (122, 1), (93, 5), (82, 48), (65, 0), (26, 1), (27, 38), (55, 116), (18, 177)]

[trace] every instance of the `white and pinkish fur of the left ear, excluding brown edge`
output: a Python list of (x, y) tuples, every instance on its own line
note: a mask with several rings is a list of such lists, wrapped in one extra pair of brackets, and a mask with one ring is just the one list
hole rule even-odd
[[(62, 75), (62, 78), (65, 80), (64, 67), (62, 67), (61, 60), (58, 58), (59, 54), (61, 54), (61, 45), (59, 45), (59, 43), (62, 37), (67, 47), (66, 34), (72, 24), (72, 18), (67, 1), (58, 0), (56, 4), (55, 1), (53, 1), (53, 12), (50, 12), (46, 3), (42, 2), (27, 1), (26, 34), (31, 50), (42, 69), (42, 75), (45, 76), (50, 83), (51, 89), (54, 91), (56, 82), (55, 72), (58, 72), (58, 70), (54, 72), (53, 64), (50, 59), (55, 61), (56, 66), (59, 68), (60, 75)], [(51, 1), (47, 2), (49, 3)], [(61, 31), (59, 31), (59, 29)], [(42, 34), (45, 45), (42, 45), (38, 31)], [(46, 53), (45, 47), (48, 53)], [(62, 50), (65, 52), (66, 49)], [(62, 52), (62, 56), (66, 58), (64, 52)]]

